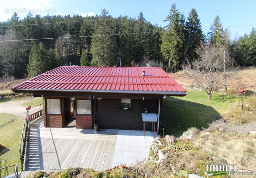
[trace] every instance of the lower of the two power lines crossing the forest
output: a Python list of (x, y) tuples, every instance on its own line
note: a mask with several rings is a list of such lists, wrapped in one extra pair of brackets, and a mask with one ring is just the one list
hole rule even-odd
[[(239, 25), (239, 26), (255, 26), (252, 25)], [(237, 26), (223, 26), (223, 27), (237, 27)], [(198, 30), (198, 29), (208, 29), (208, 28), (191, 28), (191, 29), (181, 29), (181, 30), (171, 30), (171, 31), (184, 31), (184, 30)], [(129, 35), (129, 34), (144, 34), (144, 33), (158, 33), (162, 31), (155, 32), (137, 32), (137, 33), (116, 33), (116, 34), (103, 34), (103, 35), (88, 35), (88, 36), (67, 36), (67, 37), (53, 37), (53, 38), (36, 38), (36, 39), (21, 39), (21, 40), (3, 40), (0, 42), (8, 42), (8, 41), (29, 41), (29, 40), (50, 40), (50, 39), (61, 39), (61, 38), (86, 38), (86, 37), (94, 37), (94, 36), (113, 36), (113, 35)]]

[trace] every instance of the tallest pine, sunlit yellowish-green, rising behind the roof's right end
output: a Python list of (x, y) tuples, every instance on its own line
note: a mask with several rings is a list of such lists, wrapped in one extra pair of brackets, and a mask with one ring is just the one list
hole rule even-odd
[(173, 3), (170, 10), (170, 15), (164, 21), (169, 21), (169, 24), (164, 28), (162, 33), (161, 52), (166, 61), (169, 61), (168, 69), (173, 72), (179, 69), (179, 65), (184, 60), (184, 27), (185, 18), (180, 15)]

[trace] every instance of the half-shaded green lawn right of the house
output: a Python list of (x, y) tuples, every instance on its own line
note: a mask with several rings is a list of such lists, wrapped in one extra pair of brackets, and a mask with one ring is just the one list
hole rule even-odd
[[(225, 100), (221, 95), (222, 93), (214, 93), (212, 100), (208, 100), (206, 92), (187, 90), (184, 97), (163, 99), (160, 122), (165, 125), (164, 134), (180, 136), (189, 127), (207, 128), (208, 123), (220, 119), (230, 104), (235, 105), (237, 101), (236, 96), (227, 95)], [(241, 102), (240, 98), (238, 102)]]

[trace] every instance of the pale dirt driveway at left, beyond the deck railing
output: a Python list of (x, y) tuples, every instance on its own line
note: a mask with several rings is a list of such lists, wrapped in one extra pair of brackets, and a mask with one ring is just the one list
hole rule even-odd
[[(20, 106), (20, 105), (27, 101), (29, 100), (8, 101), (8, 102), (0, 103), (0, 113), (13, 114), (15, 117), (24, 119), (26, 116), (27, 107)], [(29, 112), (34, 113), (38, 110), (40, 110), (40, 106), (30, 109)]]

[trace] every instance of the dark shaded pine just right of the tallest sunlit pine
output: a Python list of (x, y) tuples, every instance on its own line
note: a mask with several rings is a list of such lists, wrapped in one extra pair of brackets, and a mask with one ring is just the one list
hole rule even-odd
[(186, 57), (188, 60), (194, 60), (197, 58), (196, 49), (205, 38), (198, 13), (194, 8), (189, 12), (185, 28)]

